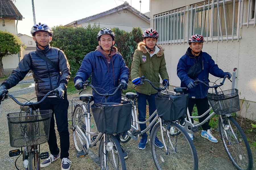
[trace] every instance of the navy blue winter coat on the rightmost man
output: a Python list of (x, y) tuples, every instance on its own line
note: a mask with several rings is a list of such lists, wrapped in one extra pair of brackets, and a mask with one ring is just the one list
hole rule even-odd
[[(199, 80), (209, 82), (209, 73), (220, 78), (223, 78), (226, 75), (226, 72), (223, 72), (222, 69), (215, 64), (209, 54), (201, 51), (199, 56), (196, 57), (191, 54), (191, 49), (188, 48), (186, 54), (179, 59), (179, 63), (177, 65), (177, 76), (181, 80), (181, 87), (187, 87), (191, 81), (194, 81), (187, 75), (187, 72), (194, 63), (197, 63), (199, 57), (203, 58), (203, 71), (201, 71), (197, 76)], [(209, 88), (207, 86), (201, 83), (195, 88), (189, 89), (186, 93), (189, 94), (189, 98), (203, 99), (208, 94), (208, 89)]]

